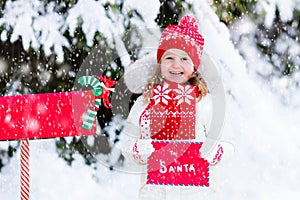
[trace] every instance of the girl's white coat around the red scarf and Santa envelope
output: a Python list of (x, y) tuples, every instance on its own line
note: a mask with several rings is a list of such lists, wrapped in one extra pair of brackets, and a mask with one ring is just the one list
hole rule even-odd
[[(137, 141), (140, 138), (140, 127), (139, 127), (139, 119), (143, 111), (145, 110), (147, 105), (143, 103), (143, 96), (140, 96), (136, 102), (134, 103), (133, 107), (131, 108), (131, 111), (129, 113), (129, 116), (126, 121), (125, 128), (122, 133), (122, 151), (123, 155), (129, 162), (134, 162), (139, 165), (144, 166), (144, 170), (146, 171), (146, 160), (147, 156), (149, 156), (153, 148), (149, 147), (149, 143), (139, 143), (140, 146), (138, 146), (138, 151), (143, 152), (141, 154), (147, 154), (143, 160), (141, 160), (139, 157), (135, 156), (134, 152), (134, 146), (137, 145)], [(206, 97), (202, 98), (201, 101), (196, 103), (196, 139), (193, 141), (197, 142), (205, 142), (205, 134), (206, 131), (209, 130), (210, 120), (211, 120), (211, 113), (212, 113), (212, 104), (211, 104), (211, 96), (208, 94)], [(218, 154), (219, 145), (216, 146), (215, 149), (213, 149), (210, 153), (210, 155), (205, 158), (208, 160), (210, 164), (216, 164), (214, 163), (214, 158)], [(148, 152), (147, 152), (148, 151)], [(211, 179), (210, 179), (211, 180)], [(205, 188), (191, 188), (191, 187), (171, 187), (171, 186), (155, 186), (155, 185), (146, 185), (146, 174), (142, 174), (141, 176), (141, 188), (140, 188), (140, 199), (154, 199), (154, 197), (151, 197), (151, 193), (161, 193), (161, 195), (171, 195), (177, 193), (177, 197), (179, 198), (182, 196), (182, 199), (188, 199), (187, 196), (189, 196), (188, 191), (193, 191), (193, 194), (196, 194), (198, 192), (206, 193), (207, 191), (210, 191)], [(169, 192), (168, 192), (169, 191)], [(170, 194), (170, 192), (172, 194)], [(167, 196), (168, 196), (167, 195)], [(159, 196), (159, 195), (158, 195)], [(193, 196), (193, 195), (192, 195)], [(202, 195), (201, 195), (202, 196)], [(174, 196), (175, 197), (175, 196)], [(166, 197), (162, 198), (165, 199)], [(194, 198), (194, 197), (193, 197)], [(191, 199), (193, 199), (191, 198)], [(176, 199), (176, 198), (175, 198)], [(180, 199), (180, 198), (179, 198)]]

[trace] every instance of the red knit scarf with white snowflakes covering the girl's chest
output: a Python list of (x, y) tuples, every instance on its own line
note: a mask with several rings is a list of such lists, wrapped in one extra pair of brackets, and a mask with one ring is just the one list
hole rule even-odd
[(156, 85), (140, 117), (141, 138), (195, 139), (196, 98), (197, 88), (193, 85)]

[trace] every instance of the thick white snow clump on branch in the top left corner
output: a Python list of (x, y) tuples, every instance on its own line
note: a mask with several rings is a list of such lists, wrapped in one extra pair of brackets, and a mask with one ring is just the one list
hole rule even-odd
[(55, 12), (54, 2), (44, 7), (43, 1), (7, 1), (0, 25), (5, 28), (1, 33), (2, 41), (8, 39), (11, 31), (11, 43), (21, 38), (25, 50), (31, 47), (38, 51), (42, 47), (46, 56), (52, 53), (53, 48), (58, 61), (63, 61), (62, 47), (70, 47), (63, 36), (66, 30), (64, 17)]

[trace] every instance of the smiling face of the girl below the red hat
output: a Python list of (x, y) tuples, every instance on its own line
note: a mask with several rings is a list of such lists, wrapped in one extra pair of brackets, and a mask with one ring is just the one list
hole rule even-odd
[(185, 83), (194, 72), (190, 56), (179, 49), (169, 49), (161, 57), (161, 75), (166, 81)]

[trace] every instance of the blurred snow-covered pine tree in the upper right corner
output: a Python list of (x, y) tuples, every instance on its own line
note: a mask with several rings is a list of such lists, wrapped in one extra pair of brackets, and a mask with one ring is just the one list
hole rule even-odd
[[(300, 84), (299, 0), (213, 1), (252, 74), (295, 106)], [(251, 51), (249, 51), (249, 46)], [(267, 60), (268, 64), (264, 61)], [(278, 88), (285, 87), (285, 90)]]

